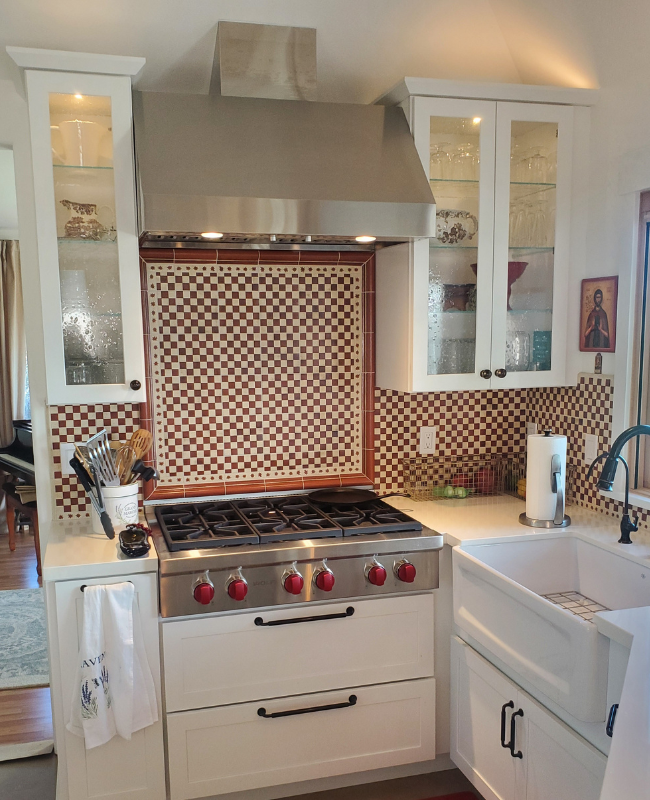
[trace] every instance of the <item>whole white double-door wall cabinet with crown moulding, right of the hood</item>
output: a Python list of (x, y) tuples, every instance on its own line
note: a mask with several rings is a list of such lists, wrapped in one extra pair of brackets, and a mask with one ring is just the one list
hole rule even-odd
[(563, 385), (570, 275), (585, 235), (577, 187), (589, 112), (578, 104), (593, 98), (565, 89), (541, 102), (548, 87), (521, 86), (508, 102), (499, 93), (512, 87), (430, 84), (432, 96), (420, 81), (419, 94), (402, 99), (404, 84), (380, 101), (408, 117), (437, 225), (435, 239), (377, 253), (377, 385)]

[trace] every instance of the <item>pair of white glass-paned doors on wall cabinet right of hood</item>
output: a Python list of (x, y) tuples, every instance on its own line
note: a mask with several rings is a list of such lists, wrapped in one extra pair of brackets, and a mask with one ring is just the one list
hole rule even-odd
[[(426, 314), (427, 329), (426, 359), (413, 348), (417, 389), (561, 382), (572, 112), (414, 98), (413, 133), (436, 201), (426, 311), (414, 298), (414, 319)], [(421, 246), (414, 253), (424, 293), (425, 256)]]

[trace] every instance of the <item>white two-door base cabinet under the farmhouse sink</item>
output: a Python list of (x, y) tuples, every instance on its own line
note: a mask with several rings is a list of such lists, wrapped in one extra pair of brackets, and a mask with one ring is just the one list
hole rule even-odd
[(452, 761), (486, 800), (598, 800), (606, 757), (458, 638)]

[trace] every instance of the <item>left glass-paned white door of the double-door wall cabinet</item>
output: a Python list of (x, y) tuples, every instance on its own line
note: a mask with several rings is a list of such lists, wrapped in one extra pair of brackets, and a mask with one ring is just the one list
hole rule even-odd
[(437, 234), (416, 257), (426, 264), (426, 271), (416, 267), (415, 302), (427, 330), (420, 354), (426, 365), (417, 372), (426, 374), (428, 388), (476, 388), (490, 367), (495, 103), (415, 103), (416, 146), (436, 201)]

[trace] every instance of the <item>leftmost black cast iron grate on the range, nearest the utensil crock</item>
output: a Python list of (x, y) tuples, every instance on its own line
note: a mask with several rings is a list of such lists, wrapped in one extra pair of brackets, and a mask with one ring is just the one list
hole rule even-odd
[(172, 551), (259, 544), (259, 537), (232, 503), (158, 506), (156, 518)]

